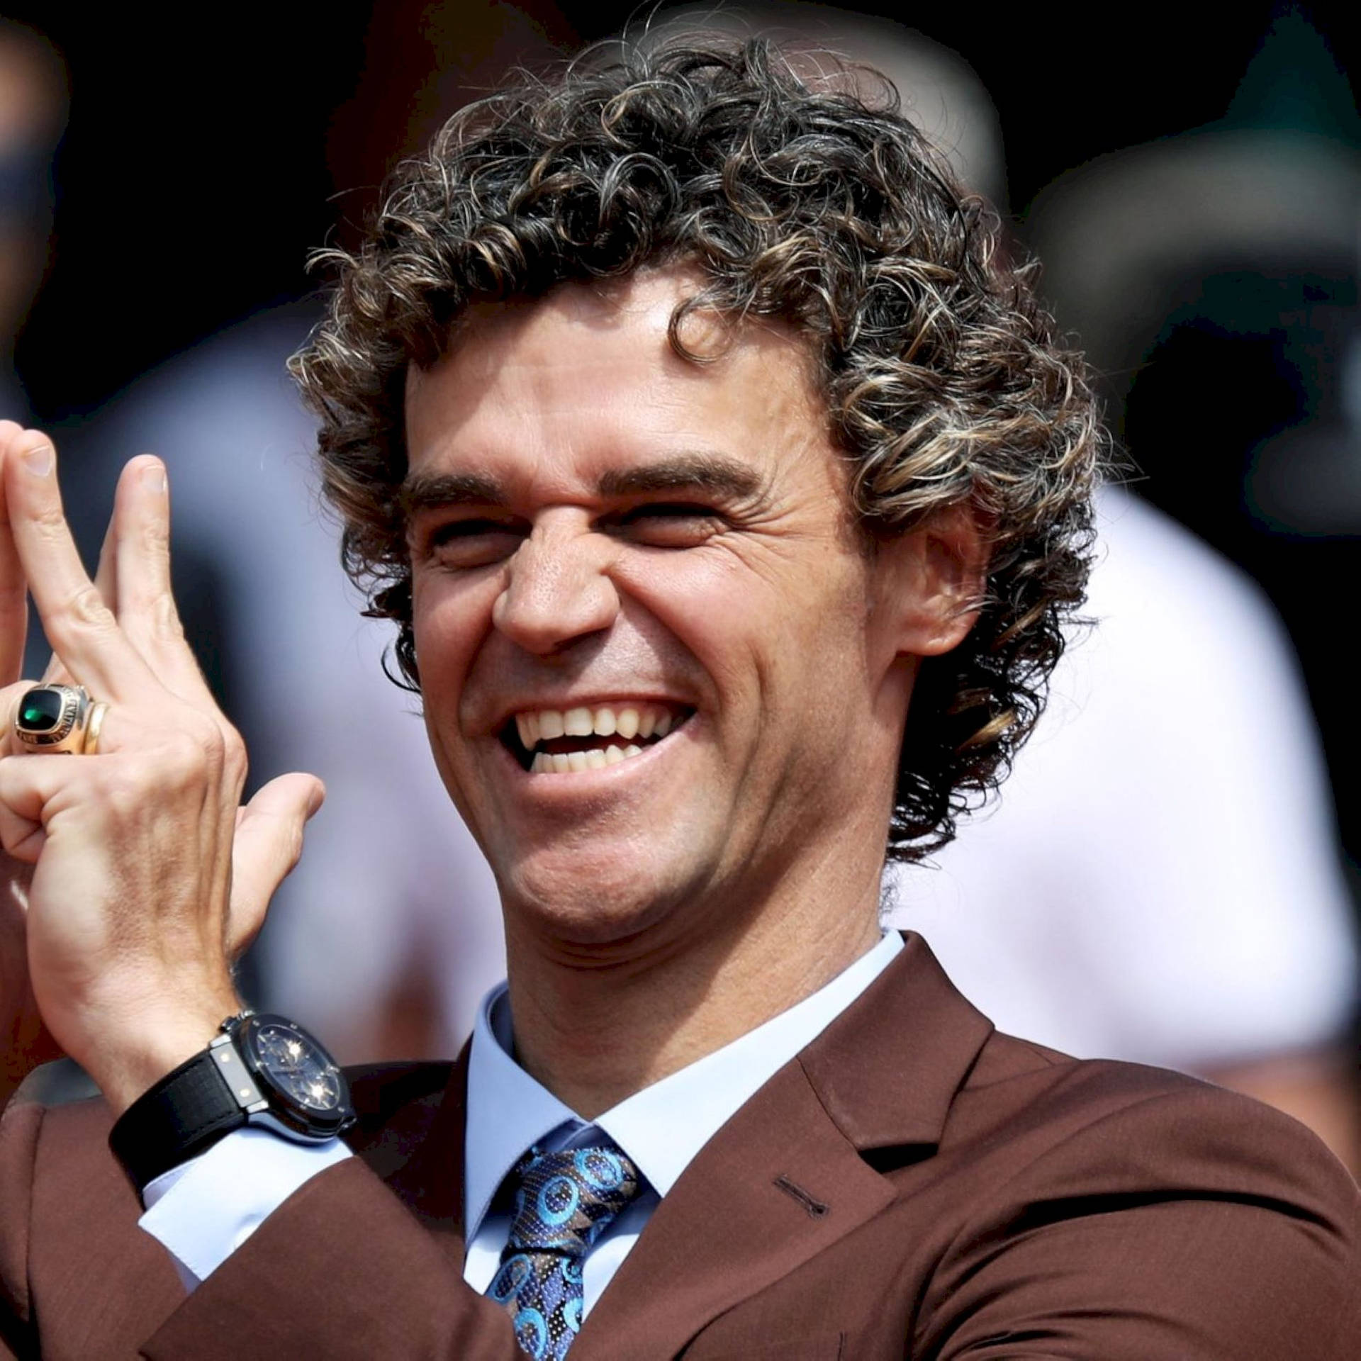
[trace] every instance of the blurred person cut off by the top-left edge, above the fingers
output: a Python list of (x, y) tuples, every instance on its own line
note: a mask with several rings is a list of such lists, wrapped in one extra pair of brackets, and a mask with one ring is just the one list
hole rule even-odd
[(52, 155), (67, 121), (67, 76), (52, 45), (0, 18), (0, 418), (30, 416), (14, 342), (48, 267)]

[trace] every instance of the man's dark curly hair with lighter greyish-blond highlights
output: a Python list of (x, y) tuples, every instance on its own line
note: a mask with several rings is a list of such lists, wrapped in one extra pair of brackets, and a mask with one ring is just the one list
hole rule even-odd
[(806, 339), (871, 538), (972, 504), (991, 536), (976, 625), (927, 659), (889, 856), (921, 859), (1006, 773), (1083, 599), (1104, 449), (1077, 355), (1000, 248), (996, 218), (898, 112), (886, 80), (803, 73), (765, 39), (625, 45), (555, 80), (519, 75), (404, 163), (293, 373), (321, 415), (343, 561), (392, 618), (418, 687), (399, 489), (407, 366), (474, 302), (644, 265), (698, 267), (694, 308)]

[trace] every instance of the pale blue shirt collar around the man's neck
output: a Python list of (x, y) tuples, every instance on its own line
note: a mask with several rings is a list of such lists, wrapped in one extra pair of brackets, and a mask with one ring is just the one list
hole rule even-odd
[(583, 1130), (603, 1130), (657, 1195), (666, 1195), (728, 1119), (851, 1006), (901, 949), (901, 936), (886, 932), (811, 996), (636, 1092), (595, 1126), (512, 1057), (510, 1004), (506, 985), (498, 984), (478, 1010), (468, 1055), (464, 1241), (472, 1241), (497, 1188), (525, 1150), (559, 1131), (562, 1142), (577, 1142)]

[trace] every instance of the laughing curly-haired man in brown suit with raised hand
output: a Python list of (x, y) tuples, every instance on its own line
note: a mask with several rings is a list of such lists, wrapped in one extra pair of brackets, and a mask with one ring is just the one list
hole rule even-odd
[(1349, 1354), (1311, 1135), (996, 1036), (879, 935), (885, 844), (995, 778), (1081, 597), (1092, 406), (991, 248), (891, 110), (676, 44), (460, 116), (339, 261), (297, 370), (509, 958), (452, 1068), (357, 1075), (358, 1157), (227, 968), (320, 789), (237, 810), (159, 461), (91, 584), (4, 429), (0, 607), (59, 670), (4, 695), (0, 836), (102, 1093), (5, 1113), (12, 1354)]

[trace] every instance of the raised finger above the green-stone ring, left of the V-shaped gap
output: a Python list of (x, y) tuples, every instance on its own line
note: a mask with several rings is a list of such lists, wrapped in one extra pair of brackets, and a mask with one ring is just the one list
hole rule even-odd
[(15, 547), (52, 651), (101, 698), (146, 694), (155, 678), (80, 563), (46, 436), (26, 430), (12, 441), (4, 485)]

